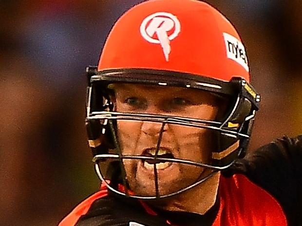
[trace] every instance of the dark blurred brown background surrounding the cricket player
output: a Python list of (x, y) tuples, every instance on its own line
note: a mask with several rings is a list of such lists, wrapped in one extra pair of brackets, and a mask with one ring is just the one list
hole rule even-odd
[[(141, 1), (0, 0), (0, 226), (56, 226), (98, 189), (84, 70)], [(262, 94), (249, 150), (302, 133), (302, 2), (208, 2), (241, 34)]]

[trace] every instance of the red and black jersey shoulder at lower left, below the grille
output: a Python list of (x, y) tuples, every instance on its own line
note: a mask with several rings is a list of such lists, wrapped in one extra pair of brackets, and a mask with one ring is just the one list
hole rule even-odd
[(138, 201), (107, 188), (94, 193), (68, 214), (59, 226), (167, 226), (166, 219), (151, 215)]

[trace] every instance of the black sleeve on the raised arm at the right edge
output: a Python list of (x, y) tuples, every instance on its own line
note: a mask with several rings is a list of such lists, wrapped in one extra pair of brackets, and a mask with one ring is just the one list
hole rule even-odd
[(223, 172), (225, 176), (238, 173), (278, 200), (289, 226), (302, 225), (302, 136), (274, 140)]

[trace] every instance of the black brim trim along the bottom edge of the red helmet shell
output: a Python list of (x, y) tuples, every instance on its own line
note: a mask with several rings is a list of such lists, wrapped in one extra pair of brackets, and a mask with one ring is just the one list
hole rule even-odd
[(243, 86), (246, 97), (258, 108), (260, 95), (245, 79), (234, 75), (230, 82), (221, 81), (207, 76), (190, 73), (152, 70), (152, 69), (110, 69), (98, 71), (96, 67), (86, 68), (89, 85), (94, 82), (104, 83), (139, 83), (157, 86), (174, 86), (197, 88), (214, 93), (235, 95)]

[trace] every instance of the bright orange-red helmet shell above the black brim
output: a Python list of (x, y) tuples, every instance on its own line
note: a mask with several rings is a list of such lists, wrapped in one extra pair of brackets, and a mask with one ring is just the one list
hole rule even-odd
[(113, 26), (100, 56), (98, 70), (109, 69), (250, 81), (245, 48), (234, 26), (197, 0), (149, 0), (127, 11)]

